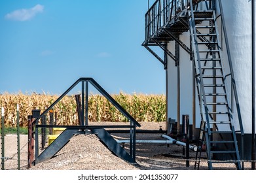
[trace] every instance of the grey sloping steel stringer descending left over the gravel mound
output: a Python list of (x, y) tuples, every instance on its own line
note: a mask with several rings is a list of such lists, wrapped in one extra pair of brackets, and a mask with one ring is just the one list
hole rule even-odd
[(51, 144), (48, 146), (36, 159), (35, 164), (41, 163), (52, 158), (57, 152), (59, 152), (69, 139), (73, 137), (74, 134), (77, 134), (77, 129), (65, 129)]

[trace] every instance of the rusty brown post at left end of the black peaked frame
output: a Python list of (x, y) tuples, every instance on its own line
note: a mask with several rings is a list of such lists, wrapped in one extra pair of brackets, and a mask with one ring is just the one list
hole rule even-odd
[(28, 153), (27, 153), (27, 169), (32, 167), (34, 159), (34, 138), (33, 138), (33, 125), (32, 115), (27, 116), (28, 118)]

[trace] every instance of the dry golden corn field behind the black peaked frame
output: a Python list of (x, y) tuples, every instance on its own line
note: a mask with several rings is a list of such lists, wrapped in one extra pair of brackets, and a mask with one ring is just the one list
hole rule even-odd
[[(166, 120), (165, 95), (119, 94), (111, 95), (137, 122), (164, 122)], [(19, 106), (20, 126), (27, 127), (27, 116), (33, 109), (45, 111), (59, 95), (3, 93), (0, 94), (0, 106), (4, 108), (5, 126), (15, 127), (17, 105)], [(78, 125), (77, 103), (75, 95), (66, 95), (54, 111), (56, 125)], [(46, 117), (48, 118), (48, 117)], [(89, 122), (128, 122), (117, 108), (100, 94), (88, 97)]]

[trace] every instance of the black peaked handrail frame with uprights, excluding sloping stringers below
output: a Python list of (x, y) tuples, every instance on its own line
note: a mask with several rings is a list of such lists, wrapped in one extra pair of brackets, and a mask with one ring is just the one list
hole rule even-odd
[[(45, 114), (51, 110), (67, 93), (69, 93), (77, 84), (82, 82), (82, 104), (81, 104), (81, 125), (39, 125), (39, 120), (45, 116)], [(130, 125), (88, 125), (88, 83), (92, 84), (94, 88), (98, 90), (107, 100), (109, 100), (128, 120)], [(84, 118), (85, 116), (85, 118)], [(136, 127), (141, 125), (126, 111), (123, 107), (109, 95), (93, 78), (79, 78), (74, 84), (72, 84), (50, 107), (48, 107), (40, 116), (36, 118), (33, 122), (35, 125), (35, 162), (37, 162), (37, 157), (39, 156), (39, 141), (38, 141), (38, 129), (45, 127), (65, 127), (66, 129), (81, 130), (81, 133), (92, 133), (88, 130), (93, 129), (105, 129), (105, 128), (130, 128), (130, 156), (132, 156), (132, 161), (136, 162)]]

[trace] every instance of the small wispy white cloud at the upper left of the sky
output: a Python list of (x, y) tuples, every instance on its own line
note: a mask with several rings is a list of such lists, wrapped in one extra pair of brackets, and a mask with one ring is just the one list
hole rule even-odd
[(5, 15), (7, 20), (26, 21), (33, 18), (36, 14), (43, 12), (43, 5), (35, 5), (33, 8), (14, 10)]

